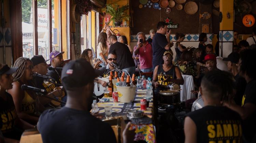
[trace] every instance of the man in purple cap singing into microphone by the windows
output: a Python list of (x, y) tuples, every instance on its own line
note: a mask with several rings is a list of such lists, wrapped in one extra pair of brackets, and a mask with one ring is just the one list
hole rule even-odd
[[(63, 53), (59, 51), (53, 51), (50, 53), (50, 61), (52, 68), (62, 68), (64, 64)], [(51, 76), (58, 85), (61, 85), (61, 70), (60, 69), (50, 69), (48, 70), (48, 75)]]

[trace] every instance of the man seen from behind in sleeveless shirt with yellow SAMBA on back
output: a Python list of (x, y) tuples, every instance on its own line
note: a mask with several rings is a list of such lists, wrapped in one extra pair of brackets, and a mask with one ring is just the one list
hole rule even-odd
[(222, 106), (233, 92), (232, 75), (221, 70), (210, 71), (204, 75), (199, 90), (204, 107), (186, 115), (185, 143), (241, 143), (240, 115)]

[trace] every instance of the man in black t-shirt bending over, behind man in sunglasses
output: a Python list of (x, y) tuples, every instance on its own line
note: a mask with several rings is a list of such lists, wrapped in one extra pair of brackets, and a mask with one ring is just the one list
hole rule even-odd
[(126, 70), (132, 76), (135, 72), (135, 64), (129, 48), (126, 44), (118, 42), (115, 35), (109, 36), (108, 41), (111, 44), (109, 53), (115, 53), (120, 69)]

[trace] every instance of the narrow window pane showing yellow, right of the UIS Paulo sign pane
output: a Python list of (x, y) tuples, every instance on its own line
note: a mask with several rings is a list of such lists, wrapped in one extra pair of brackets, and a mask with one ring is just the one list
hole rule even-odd
[(59, 0), (52, 0), (52, 51), (61, 51), (59, 41), (60, 37), (60, 9), (59, 9)]

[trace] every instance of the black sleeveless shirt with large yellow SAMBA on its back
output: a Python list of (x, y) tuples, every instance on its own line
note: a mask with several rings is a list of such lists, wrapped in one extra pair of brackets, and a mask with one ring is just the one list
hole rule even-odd
[(205, 106), (188, 113), (197, 127), (197, 142), (242, 142), (240, 115), (224, 106)]

